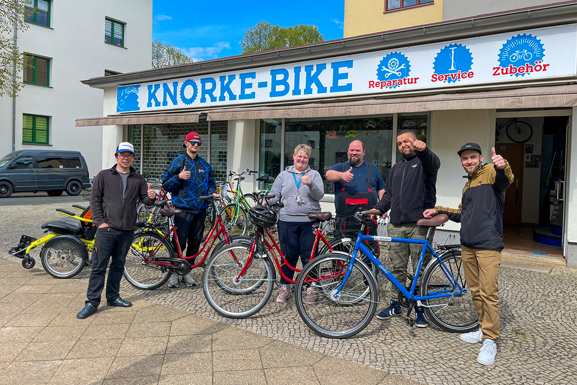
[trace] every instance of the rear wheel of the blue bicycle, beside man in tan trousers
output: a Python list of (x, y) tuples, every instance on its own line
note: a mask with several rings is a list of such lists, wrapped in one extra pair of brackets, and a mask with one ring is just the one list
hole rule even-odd
[[(467, 287), (465, 280), (461, 251), (447, 251), (439, 257), (459, 286), (467, 291), (461, 295), (422, 301), (424, 305), (431, 306), (429, 308), (425, 306), (427, 316), (434, 324), (448, 332), (467, 333), (477, 330), (479, 328), (477, 311), (473, 305), (471, 290)], [(425, 296), (438, 291), (451, 290), (451, 288), (452, 284), (445, 275), (442, 265), (439, 260), (433, 258), (423, 273), (420, 294)]]

